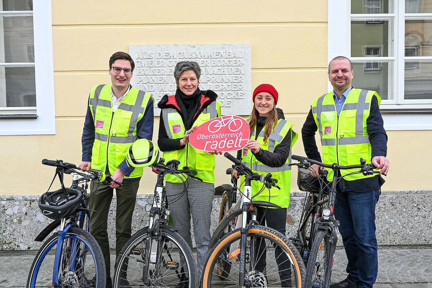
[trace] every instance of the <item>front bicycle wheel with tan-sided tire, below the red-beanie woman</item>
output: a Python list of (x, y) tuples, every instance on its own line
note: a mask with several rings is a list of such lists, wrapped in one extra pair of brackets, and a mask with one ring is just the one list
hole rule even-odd
[[(219, 241), (204, 267), (202, 287), (239, 287), (240, 229)], [(221, 262), (230, 270), (221, 277)], [(249, 287), (302, 287), (305, 265), (299, 252), (283, 234), (265, 226), (249, 229), (245, 252), (245, 279)]]

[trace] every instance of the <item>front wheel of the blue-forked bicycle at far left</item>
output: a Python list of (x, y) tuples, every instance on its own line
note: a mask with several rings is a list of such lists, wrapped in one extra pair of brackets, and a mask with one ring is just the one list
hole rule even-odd
[[(57, 247), (57, 233), (51, 235), (44, 242), (33, 260), (27, 278), (27, 288), (52, 287), (52, 276), (54, 268), (55, 250)], [(71, 240), (76, 240), (75, 246), (79, 254), (79, 261), (73, 273), (69, 270), (70, 254), (68, 255), (68, 245)], [(106, 269), (102, 250), (95, 238), (87, 232), (77, 227), (70, 227), (64, 238), (64, 247), (60, 259), (59, 282), (61, 287), (96, 287), (103, 288), (106, 284)], [(51, 252), (50, 252), (51, 251)], [(91, 256), (91, 257), (87, 257)], [(44, 262), (45, 260), (45, 262)], [(84, 267), (83, 267), (84, 266)], [(82, 272), (81, 272), (82, 271)], [(42, 273), (44, 272), (44, 273)], [(40, 277), (38, 277), (40, 276)]]

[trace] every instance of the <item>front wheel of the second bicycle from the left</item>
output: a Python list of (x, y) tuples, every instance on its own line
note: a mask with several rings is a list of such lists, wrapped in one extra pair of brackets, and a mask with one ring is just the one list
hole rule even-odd
[(159, 253), (155, 264), (155, 271), (159, 270), (159, 273), (148, 271), (149, 283), (144, 284), (143, 269), (146, 264), (144, 259), (148, 253), (146, 249), (148, 227), (146, 227), (133, 234), (121, 250), (115, 265), (114, 288), (121, 288), (122, 280), (127, 280), (132, 287), (160, 287), (161, 285), (163, 287), (175, 287), (184, 282), (181, 276), (188, 278), (189, 288), (196, 287), (197, 268), (191, 248), (170, 227), (160, 225), (159, 228), (161, 231), (159, 244), (162, 243), (162, 245), (158, 245), (160, 250), (158, 249)]

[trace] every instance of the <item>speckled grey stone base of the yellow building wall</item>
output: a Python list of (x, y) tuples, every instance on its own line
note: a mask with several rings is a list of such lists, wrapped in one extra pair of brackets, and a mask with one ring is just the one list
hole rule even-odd
[[(383, 191), (376, 207), (377, 239), (379, 246), (432, 244), (432, 190)], [(51, 220), (38, 208), (37, 195), (0, 196), (0, 250), (37, 250), (40, 242), (35, 237)], [(140, 194), (133, 214), (133, 233), (148, 224), (148, 212), (153, 195)], [(292, 192), (288, 214), (294, 225), (287, 224), (288, 237), (294, 237), (302, 213), (305, 193)], [(213, 199), (211, 232), (219, 221), (221, 198)], [(111, 248), (115, 243), (116, 196), (108, 217), (108, 235)], [(337, 204), (336, 204), (337, 205)], [(193, 235), (193, 232), (192, 232)], [(341, 240), (338, 245), (342, 245)]]

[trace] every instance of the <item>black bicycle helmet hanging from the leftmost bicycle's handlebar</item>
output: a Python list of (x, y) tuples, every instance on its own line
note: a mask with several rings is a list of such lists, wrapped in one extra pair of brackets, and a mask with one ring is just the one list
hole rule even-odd
[(42, 214), (50, 219), (57, 220), (75, 213), (83, 193), (73, 188), (65, 188), (65, 190), (58, 189), (41, 195), (38, 204)]

